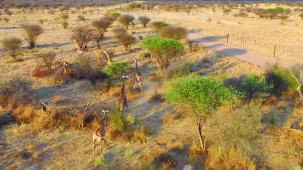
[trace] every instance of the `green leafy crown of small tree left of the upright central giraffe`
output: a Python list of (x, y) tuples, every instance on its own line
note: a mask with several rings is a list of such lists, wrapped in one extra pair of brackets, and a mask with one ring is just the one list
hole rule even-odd
[(111, 65), (106, 66), (103, 71), (111, 79), (122, 80), (122, 76), (128, 75), (129, 70), (132, 67), (125, 62), (113, 62)]

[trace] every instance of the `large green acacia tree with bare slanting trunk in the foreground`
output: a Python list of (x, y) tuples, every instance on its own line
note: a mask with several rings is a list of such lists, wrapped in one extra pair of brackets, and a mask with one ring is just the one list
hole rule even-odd
[(200, 147), (206, 148), (209, 126), (203, 135), (203, 122), (223, 104), (230, 104), (237, 99), (236, 93), (208, 77), (179, 78), (169, 85), (166, 99), (182, 104), (189, 109), (191, 118), (196, 124)]

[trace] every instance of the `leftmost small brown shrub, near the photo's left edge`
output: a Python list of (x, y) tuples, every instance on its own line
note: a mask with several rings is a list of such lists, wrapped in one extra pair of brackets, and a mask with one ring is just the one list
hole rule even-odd
[(6, 38), (2, 40), (2, 46), (5, 51), (15, 60), (18, 55), (18, 50), (21, 46), (22, 40), (19, 38)]

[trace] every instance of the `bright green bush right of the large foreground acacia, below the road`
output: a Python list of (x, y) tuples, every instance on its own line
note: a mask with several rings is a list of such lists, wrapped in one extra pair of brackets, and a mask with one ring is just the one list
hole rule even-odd
[(265, 77), (249, 75), (242, 83), (242, 88), (250, 100), (254, 95), (266, 97), (269, 95), (269, 90), (273, 88), (272, 84), (267, 84)]

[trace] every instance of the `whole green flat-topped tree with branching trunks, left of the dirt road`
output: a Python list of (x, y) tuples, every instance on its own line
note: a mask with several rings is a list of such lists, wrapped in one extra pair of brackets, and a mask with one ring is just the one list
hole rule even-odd
[(141, 41), (146, 49), (148, 49), (152, 56), (156, 59), (161, 71), (169, 66), (170, 60), (184, 50), (184, 45), (177, 40), (168, 38), (150, 37)]

